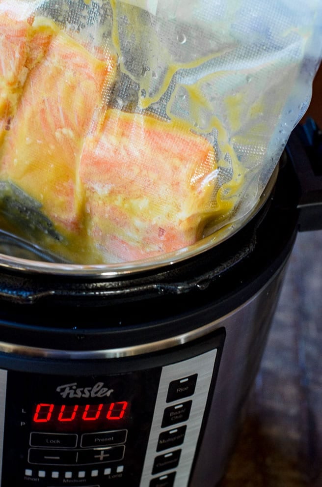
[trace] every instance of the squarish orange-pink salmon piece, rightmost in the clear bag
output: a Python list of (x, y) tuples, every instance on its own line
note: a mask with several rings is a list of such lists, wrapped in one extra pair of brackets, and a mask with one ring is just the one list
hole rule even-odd
[(108, 110), (80, 161), (88, 239), (107, 262), (195, 243), (212, 212), (214, 148), (186, 126)]

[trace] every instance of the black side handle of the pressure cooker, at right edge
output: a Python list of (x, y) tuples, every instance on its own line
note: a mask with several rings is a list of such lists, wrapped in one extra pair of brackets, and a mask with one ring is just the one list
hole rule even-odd
[(300, 195), (299, 231), (322, 229), (322, 130), (312, 118), (299, 124), (287, 143)]

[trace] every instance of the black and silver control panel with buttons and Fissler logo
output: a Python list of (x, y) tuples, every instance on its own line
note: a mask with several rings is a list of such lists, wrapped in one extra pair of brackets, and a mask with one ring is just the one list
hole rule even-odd
[(219, 346), (98, 376), (0, 370), (0, 487), (188, 487)]

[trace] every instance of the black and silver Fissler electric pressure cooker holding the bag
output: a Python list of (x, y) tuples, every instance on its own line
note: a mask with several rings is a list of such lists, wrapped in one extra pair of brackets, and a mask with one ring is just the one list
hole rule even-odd
[(321, 152), (297, 127), (244, 225), (161, 266), (55, 264), (2, 239), (1, 487), (218, 484), (296, 233), (322, 228)]

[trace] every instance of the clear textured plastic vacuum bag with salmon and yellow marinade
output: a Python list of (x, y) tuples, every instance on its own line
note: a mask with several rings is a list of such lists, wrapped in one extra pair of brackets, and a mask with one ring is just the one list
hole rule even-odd
[(80, 264), (215, 242), (321, 56), (321, 0), (0, 0), (0, 227)]

